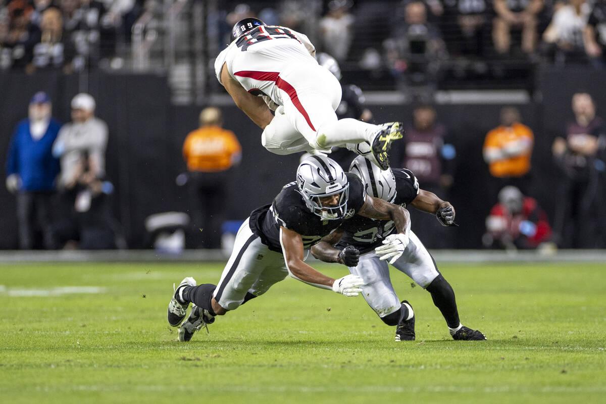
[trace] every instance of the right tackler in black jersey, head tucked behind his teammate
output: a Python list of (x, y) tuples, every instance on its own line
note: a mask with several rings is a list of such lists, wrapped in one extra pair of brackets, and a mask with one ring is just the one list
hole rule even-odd
[[(435, 214), (442, 225), (455, 225), (454, 208), (450, 202), (421, 190), (412, 171), (404, 168), (383, 171), (373, 167), (362, 157), (356, 157), (350, 167), (350, 173), (359, 176), (370, 196), (380, 197), (402, 207), (412, 205), (421, 211)], [(454, 291), (438, 271), (433, 257), (415, 233), (410, 231), (403, 252), (393, 250), (390, 240), (401, 237), (395, 236), (397, 233), (389, 220), (355, 216), (314, 245), (311, 253), (325, 262), (341, 262), (339, 257), (349, 250), (352, 262), (355, 263), (356, 251), (352, 250), (356, 248), (359, 251), (359, 263), (348, 265), (349, 270), (351, 274), (364, 279), (362, 295), (368, 305), (387, 325), (396, 326), (396, 341), (415, 339), (415, 317), (410, 316), (410, 304), (406, 300), (400, 302), (393, 290), (387, 260), (431, 294), (453, 339), (486, 339), (480, 331), (461, 325)]]

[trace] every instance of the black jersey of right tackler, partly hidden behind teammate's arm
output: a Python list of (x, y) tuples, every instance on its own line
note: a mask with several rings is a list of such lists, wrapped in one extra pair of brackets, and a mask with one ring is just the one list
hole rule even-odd
[[(419, 193), (419, 182), (412, 171), (405, 168), (392, 168), (396, 178), (395, 205), (407, 207)], [(392, 220), (376, 220), (368, 217), (356, 216), (345, 220), (341, 227), (345, 230), (336, 247), (343, 249), (353, 245), (361, 254), (374, 250), (390, 234), (396, 233), (396, 226)]]

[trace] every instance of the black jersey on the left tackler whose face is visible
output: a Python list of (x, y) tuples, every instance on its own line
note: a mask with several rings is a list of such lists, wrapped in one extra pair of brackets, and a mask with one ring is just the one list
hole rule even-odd
[(345, 175), (349, 182), (349, 198), (343, 218), (326, 220), (312, 213), (305, 205), (296, 182), (291, 182), (282, 187), (271, 205), (257, 208), (250, 214), (251, 231), (261, 237), (262, 242), (270, 250), (282, 253), (280, 227), (284, 226), (301, 234), (303, 247), (310, 248), (322, 237), (336, 230), (345, 218), (353, 217), (364, 206), (366, 197), (364, 184), (354, 174), (345, 173)]

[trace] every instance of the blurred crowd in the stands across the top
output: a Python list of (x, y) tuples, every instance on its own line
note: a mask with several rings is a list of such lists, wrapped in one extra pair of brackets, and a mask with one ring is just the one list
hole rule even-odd
[[(319, 51), (341, 64), (345, 81), (364, 90), (525, 88), (541, 64), (605, 67), (604, 0), (198, 3), (207, 16), (201, 24), (208, 55), (225, 47), (236, 21), (258, 16), (269, 25), (306, 33)], [(175, 15), (176, 4), (177, 12), (187, 14), (196, 1), (2, 0), (0, 68), (32, 73), (128, 67), (136, 22), (150, 27), (158, 20), (164, 33), (154, 35), (167, 35), (179, 29), (171, 23), (181, 25), (166, 17)]]

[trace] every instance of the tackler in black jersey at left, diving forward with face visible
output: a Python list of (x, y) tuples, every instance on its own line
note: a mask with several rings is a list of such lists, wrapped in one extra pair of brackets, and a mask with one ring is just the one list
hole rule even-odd
[[(260, 296), (288, 274), (318, 288), (357, 296), (364, 283), (358, 275), (335, 280), (304, 262), (305, 249), (355, 214), (392, 220), (395, 236), (405, 237), (410, 228), (407, 210), (368, 196), (361, 180), (335, 161), (324, 154), (305, 159), (296, 182), (285, 185), (272, 204), (254, 210), (244, 221), (219, 283), (196, 286), (192, 277), (186, 277), (176, 288), (168, 305), (168, 323), (181, 325), (179, 340), (190, 340), (215, 316)], [(337, 260), (352, 264), (344, 254)], [(190, 302), (191, 313), (183, 321)]]

